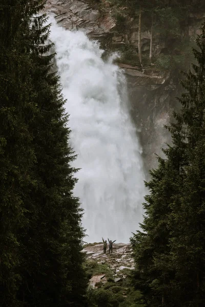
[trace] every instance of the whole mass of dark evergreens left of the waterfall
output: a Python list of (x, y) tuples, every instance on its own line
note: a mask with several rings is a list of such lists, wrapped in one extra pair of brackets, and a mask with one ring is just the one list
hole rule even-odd
[(42, 8), (0, 4), (0, 305), (85, 306), (76, 156)]

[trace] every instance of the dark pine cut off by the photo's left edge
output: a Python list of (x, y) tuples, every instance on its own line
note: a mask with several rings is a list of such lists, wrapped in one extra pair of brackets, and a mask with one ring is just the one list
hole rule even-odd
[(26, 227), (24, 202), (35, 155), (30, 123), (36, 108), (24, 45), (25, 1), (0, 4), (0, 305), (17, 306), (21, 263), (18, 231)]

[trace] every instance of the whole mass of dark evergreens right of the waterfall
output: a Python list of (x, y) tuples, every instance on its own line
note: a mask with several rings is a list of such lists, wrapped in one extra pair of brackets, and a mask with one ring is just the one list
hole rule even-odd
[(150, 172), (142, 231), (131, 238), (133, 281), (152, 307), (205, 304), (205, 24), (201, 31), (193, 50), (198, 65), (185, 74), (181, 112), (167, 127), (173, 145)]

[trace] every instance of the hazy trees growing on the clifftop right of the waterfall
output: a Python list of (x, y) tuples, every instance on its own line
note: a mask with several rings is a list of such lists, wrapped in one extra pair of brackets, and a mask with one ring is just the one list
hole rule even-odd
[[(141, 32), (148, 31), (150, 35), (150, 38), (144, 37), (144, 41), (138, 46), (130, 43), (132, 39), (126, 39), (125, 46), (114, 47), (120, 50), (125, 63), (134, 66), (143, 64), (145, 67), (154, 63), (158, 69), (172, 71), (175, 76), (180, 70), (190, 69), (190, 61), (193, 62), (191, 48), (194, 47), (194, 40), (189, 33), (189, 26), (193, 24), (194, 14), (204, 11), (204, 2), (200, 0), (109, 0), (108, 3), (115, 17), (116, 30), (119, 34), (127, 33), (130, 23), (134, 28), (137, 23), (139, 25), (139, 15), (141, 15), (137, 40), (140, 41)], [(127, 34), (129, 35), (130, 31)], [(159, 40), (165, 43), (165, 48), (161, 49), (160, 54), (156, 54), (155, 45)], [(125, 47), (130, 49), (130, 46), (135, 50), (134, 56), (132, 52), (129, 53), (132, 61), (127, 60), (127, 54), (124, 52)]]

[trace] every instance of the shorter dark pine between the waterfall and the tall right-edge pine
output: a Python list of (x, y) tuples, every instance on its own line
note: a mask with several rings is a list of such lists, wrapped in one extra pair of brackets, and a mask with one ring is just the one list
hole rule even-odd
[[(150, 195), (145, 197), (144, 223), (141, 224), (142, 232), (138, 231), (131, 238), (134, 251), (135, 287), (144, 294), (148, 306), (175, 306), (170, 281), (175, 276), (175, 271), (170, 261), (169, 216), (172, 212), (170, 204), (174, 201), (173, 195), (178, 191), (179, 161), (175, 159), (176, 148), (170, 151), (172, 159), (158, 158), (159, 166), (150, 171), (150, 182), (146, 186)], [(175, 156), (175, 157), (174, 157)]]

